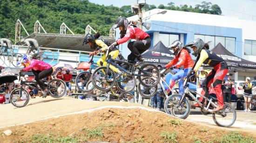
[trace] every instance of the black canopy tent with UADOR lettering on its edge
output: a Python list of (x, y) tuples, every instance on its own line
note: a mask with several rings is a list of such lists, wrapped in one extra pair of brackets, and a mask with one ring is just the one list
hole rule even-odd
[(144, 62), (162, 66), (168, 64), (175, 57), (161, 41), (149, 50), (143, 52), (141, 56)]

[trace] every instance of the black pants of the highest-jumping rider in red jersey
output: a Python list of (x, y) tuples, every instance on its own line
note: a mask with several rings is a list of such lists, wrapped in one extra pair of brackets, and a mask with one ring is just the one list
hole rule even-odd
[(128, 60), (134, 61), (135, 58), (141, 59), (141, 53), (149, 49), (151, 45), (151, 39), (148, 37), (143, 40), (133, 41), (128, 44), (128, 48), (131, 53), (128, 55)]

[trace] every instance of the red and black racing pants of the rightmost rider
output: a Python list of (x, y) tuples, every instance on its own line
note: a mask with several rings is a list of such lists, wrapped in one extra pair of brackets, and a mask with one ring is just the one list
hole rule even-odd
[[(206, 96), (209, 92), (209, 87), (213, 84), (213, 88), (216, 92), (216, 97), (218, 100), (218, 105), (223, 106), (223, 96), (222, 96), (222, 81), (229, 72), (229, 69), (222, 68), (221, 64), (218, 64), (214, 67), (214, 69), (208, 74), (206, 79), (203, 81), (202, 84), (202, 92), (201, 94)], [(202, 100), (202, 98), (201, 98)]]

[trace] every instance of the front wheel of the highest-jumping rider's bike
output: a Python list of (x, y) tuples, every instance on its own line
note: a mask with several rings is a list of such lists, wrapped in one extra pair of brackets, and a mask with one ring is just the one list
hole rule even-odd
[[(100, 71), (100, 70), (103, 70), (103, 71)], [(93, 81), (94, 87), (101, 91), (108, 91), (115, 85), (115, 80), (116, 80), (115, 72), (110, 68), (108, 69), (108, 77), (113, 78), (113, 81), (111, 81), (108, 79), (108, 77), (106, 79), (106, 75), (107, 75), (106, 70), (107, 70), (107, 66), (100, 66), (97, 69), (95, 69), (94, 73), (92, 74), (92, 81)], [(100, 76), (103, 76), (100, 79), (97, 79), (97, 78), (99, 78), (98, 71), (99, 71)], [(102, 86), (102, 87), (98, 86), (97, 80), (100, 80), (101, 83), (103, 83), (103, 85), (106, 84), (108, 87), (106, 88), (104, 86)], [(102, 85), (101, 83), (99, 85)]]

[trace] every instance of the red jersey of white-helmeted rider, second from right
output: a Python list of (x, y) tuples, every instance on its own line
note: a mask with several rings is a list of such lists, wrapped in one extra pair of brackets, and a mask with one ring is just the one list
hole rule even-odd
[(182, 51), (175, 56), (175, 58), (170, 61), (167, 65), (165, 65), (166, 68), (169, 68), (171, 66), (175, 65), (175, 68), (184, 66), (184, 69), (186, 68), (193, 68), (194, 61), (191, 58), (189, 52), (186, 49), (182, 49)]

